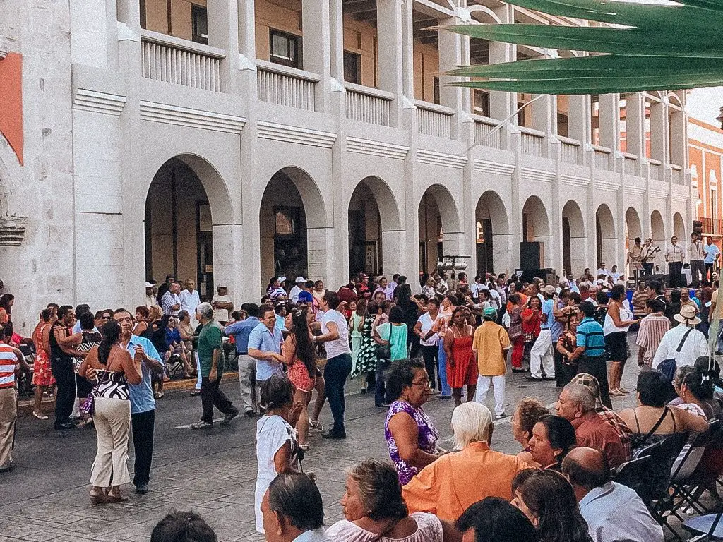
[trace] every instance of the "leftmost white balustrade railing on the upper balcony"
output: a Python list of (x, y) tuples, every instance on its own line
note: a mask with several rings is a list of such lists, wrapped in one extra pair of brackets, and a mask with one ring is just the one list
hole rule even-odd
[(143, 77), (221, 92), (221, 59), (225, 51), (141, 30)]

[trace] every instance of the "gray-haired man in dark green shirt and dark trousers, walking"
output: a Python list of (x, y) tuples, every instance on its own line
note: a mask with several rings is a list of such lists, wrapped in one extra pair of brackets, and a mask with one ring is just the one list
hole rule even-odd
[(223, 327), (213, 319), (213, 307), (202, 303), (196, 309), (196, 318), (203, 324), (198, 335), (198, 360), (201, 366), (201, 403), (203, 416), (200, 423), (191, 429), (213, 427), (213, 407), (225, 415), (221, 425), (225, 426), (239, 415), (239, 409), (219, 389), (223, 377)]

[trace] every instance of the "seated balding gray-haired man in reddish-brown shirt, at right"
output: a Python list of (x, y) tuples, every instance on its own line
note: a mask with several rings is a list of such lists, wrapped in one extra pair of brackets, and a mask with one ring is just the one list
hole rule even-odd
[(583, 384), (570, 382), (555, 404), (557, 414), (575, 428), (578, 446), (599, 449), (612, 468), (628, 460), (620, 434), (596, 412), (596, 398)]

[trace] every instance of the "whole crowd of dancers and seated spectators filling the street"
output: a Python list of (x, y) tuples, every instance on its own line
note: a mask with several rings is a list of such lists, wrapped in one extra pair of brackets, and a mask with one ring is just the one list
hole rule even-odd
[[(417, 295), (401, 275), (360, 273), (338, 291), (304, 277), (288, 288), (275, 277), (259, 304), (236, 309), (223, 285), (201, 302), (193, 280), (181, 290), (169, 275), (160, 286), (145, 284), (146, 305), (134, 311), (50, 304), (27, 338), (14, 332), (12, 294), (4, 294), (0, 472), (14, 466), (17, 379), (32, 373), (35, 418), (48, 419), (41, 400), (51, 393), (56, 430), (95, 427), (91, 502), (127, 500), (121, 486), (130, 481), (145, 494), (156, 400), (176, 366), (197, 379), (192, 395), (201, 397), (202, 416), (192, 429), (212, 429), (214, 409), (222, 425), (241, 410), (258, 418), (255, 520), (269, 541), (662, 541), (648, 506), (667, 491), (685, 442), (721, 413), (723, 384), (706, 338), (717, 289), (703, 280), (691, 295), (640, 280), (628, 291), (622, 275), (607, 280), (613, 276), (595, 279), (586, 270), (546, 284), (435, 273), (421, 278)], [(610, 397), (630, 393), (621, 377), (632, 330), (641, 367), (637, 406), (615, 412)], [(21, 350), (30, 345), (32, 370)], [(232, 364), (238, 407), (220, 386)], [(527, 397), (505, 412), (508, 365), (529, 372), (530, 381), (555, 381), (554, 408)], [(350, 376), (387, 411), (388, 458), (348, 470), (346, 519), (324, 531), (322, 496), (301, 462), (310, 429), (346, 439)], [(432, 397), (450, 401), (452, 450), (442, 448), (424, 411)], [(327, 400), (333, 426), (325, 430)], [(510, 414), (517, 455), (492, 449), (495, 420)], [(657, 457), (635, 489), (614, 481), (621, 465), (673, 436), (680, 449)], [(187, 538), (167, 538), (181, 531)], [(152, 535), (171, 539), (215, 535), (193, 512), (174, 512)]]

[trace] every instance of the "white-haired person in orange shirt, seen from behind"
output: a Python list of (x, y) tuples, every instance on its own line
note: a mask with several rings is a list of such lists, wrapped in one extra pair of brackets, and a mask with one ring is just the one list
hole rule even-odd
[(455, 449), (423, 468), (403, 486), (409, 512), (430, 512), (455, 521), (471, 504), (488, 496), (512, 499), (512, 479), (530, 465), (489, 448), (492, 413), (479, 403), (463, 403), (452, 413)]

